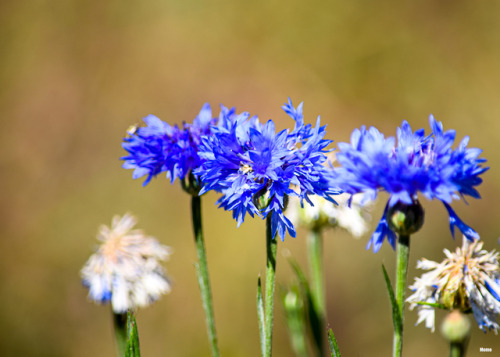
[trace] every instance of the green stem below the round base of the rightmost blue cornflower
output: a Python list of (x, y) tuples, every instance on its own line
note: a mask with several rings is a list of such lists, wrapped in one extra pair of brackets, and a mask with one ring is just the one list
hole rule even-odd
[(403, 352), (403, 325), (406, 280), (408, 277), (408, 257), (410, 255), (410, 236), (399, 235), (396, 248), (396, 302), (401, 318), (400, 328), (394, 329), (393, 356), (401, 357)]

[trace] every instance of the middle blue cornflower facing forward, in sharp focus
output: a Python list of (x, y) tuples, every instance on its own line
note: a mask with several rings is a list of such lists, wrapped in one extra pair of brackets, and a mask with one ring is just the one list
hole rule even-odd
[[(325, 126), (304, 125), (302, 104), (297, 109), (289, 100), (283, 110), (295, 120), (295, 128), (276, 133), (272, 120), (262, 124), (248, 113), (236, 115), (223, 108), (213, 135), (204, 136), (199, 156), (204, 160), (195, 170), (203, 182), (200, 195), (215, 190), (223, 195), (219, 207), (233, 211), (238, 226), (245, 215), (271, 215), (271, 233), (283, 240), (295, 229), (285, 217), (287, 197), (316, 194), (329, 200), (339, 190), (329, 185), (333, 171), (323, 166), (326, 147)], [(294, 190), (295, 188), (295, 190)]]

